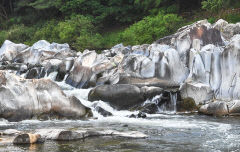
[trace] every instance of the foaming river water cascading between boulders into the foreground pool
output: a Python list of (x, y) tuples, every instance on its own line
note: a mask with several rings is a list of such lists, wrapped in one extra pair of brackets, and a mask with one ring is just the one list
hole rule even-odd
[[(130, 111), (117, 111), (103, 101), (87, 101), (90, 89), (74, 89), (58, 83), (67, 95), (75, 95), (91, 107), (94, 117), (90, 120), (25, 120), (0, 121), (0, 130), (17, 129), (33, 131), (42, 128), (95, 129), (140, 131), (145, 139), (95, 137), (71, 142), (46, 141), (43, 144), (15, 146), (1, 144), (0, 151), (31, 152), (160, 152), (160, 151), (240, 151), (240, 119), (238, 117), (211, 117), (197, 113), (164, 112), (147, 115), (147, 118), (128, 118)], [(174, 96), (173, 96), (174, 98)], [(148, 101), (149, 102), (149, 101)], [(113, 113), (111, 117), (98, 114), (93, 105), (98, 104)], [(173, 103), (174, 104), (174, 103)], [(174, 108), (173, 108), (174, 109)]]

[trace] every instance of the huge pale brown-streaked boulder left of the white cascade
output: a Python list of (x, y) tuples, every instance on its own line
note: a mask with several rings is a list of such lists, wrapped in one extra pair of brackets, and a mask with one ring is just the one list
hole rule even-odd
[(80, 119), (90, 112), (76, 97), (67, 97), (49, 79), (27, 80), (6, 71), (0, 71), (0, 97), (0, 116), (9, 121), (42, 114)]

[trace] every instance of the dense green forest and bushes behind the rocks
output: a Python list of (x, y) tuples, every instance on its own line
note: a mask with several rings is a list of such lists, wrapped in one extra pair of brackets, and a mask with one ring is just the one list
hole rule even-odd
[(45, 39), (78, 51), (151, 43), (207, 18), (240, 21), (239, 0), (0, 0), (0, 44)]

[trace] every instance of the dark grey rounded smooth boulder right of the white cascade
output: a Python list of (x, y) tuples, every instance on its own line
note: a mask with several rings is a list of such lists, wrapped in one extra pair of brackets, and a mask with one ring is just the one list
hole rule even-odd
[(128, 84), (101, 85), (89, 92), (88, 100), (109, 102), (117, 109), (128, 109), (144, 102), (140, 88)]

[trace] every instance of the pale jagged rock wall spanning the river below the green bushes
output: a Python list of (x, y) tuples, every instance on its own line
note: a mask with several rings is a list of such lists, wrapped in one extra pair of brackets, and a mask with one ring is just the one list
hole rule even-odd
[(239, 23), (202, 20), (153, 44), (119, 44), (101, 54), (76, 53), (67, 44), (44, 40), (32, 47), (5, 41), (0, 69), (27, 79), (50, 75), (76, 88), (96, 87), (90, 100), (106, 100), (120, 109), (156, 95), (144, 93), (144, 87), (179, 88), (182, 100), (204, 105), (201, 112), (225, 115), (239, 111), (239, 51)]

